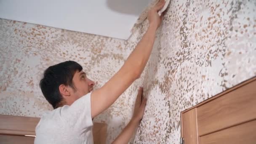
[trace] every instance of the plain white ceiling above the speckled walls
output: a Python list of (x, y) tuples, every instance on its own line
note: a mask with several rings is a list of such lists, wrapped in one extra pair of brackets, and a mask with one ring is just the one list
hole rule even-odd
[(0, 18), (128, 39), (150, 0), (0, 0)]

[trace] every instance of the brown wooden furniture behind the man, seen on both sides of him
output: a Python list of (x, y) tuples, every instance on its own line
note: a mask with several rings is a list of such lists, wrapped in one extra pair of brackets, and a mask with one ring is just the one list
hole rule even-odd
[[(0, 144), (34, 144), (38, 117), (0, 115)], [(107, 124), (93, 123), (94, 144), (105, 144)]]

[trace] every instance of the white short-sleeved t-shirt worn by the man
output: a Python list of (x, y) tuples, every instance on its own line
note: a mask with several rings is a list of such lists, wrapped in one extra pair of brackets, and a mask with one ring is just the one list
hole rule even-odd
[(91, 93), (46, 113), (36, 126), (35, 144), (93, 144)]

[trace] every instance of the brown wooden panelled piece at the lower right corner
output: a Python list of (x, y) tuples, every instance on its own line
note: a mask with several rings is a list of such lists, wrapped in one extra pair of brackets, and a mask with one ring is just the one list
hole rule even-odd
[(256, 144), (256, 77), (181, 112), (183, 144)]

